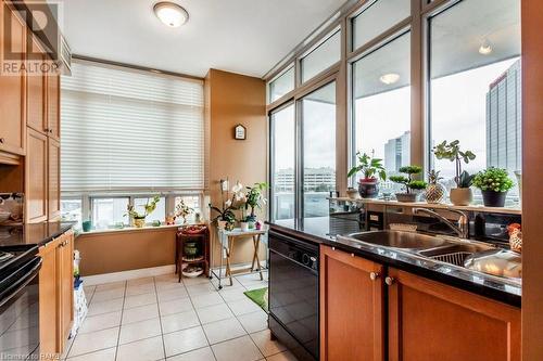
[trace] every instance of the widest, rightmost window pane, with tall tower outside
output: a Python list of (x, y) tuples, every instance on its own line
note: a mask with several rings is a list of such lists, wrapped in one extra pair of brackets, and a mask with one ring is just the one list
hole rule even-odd
[[(465, 168), (521, 167), (520, 1), (464, 0), (430, 24), (430, 149), (459, 140)], [(430, 160), (447, 185), (454, 165)], [(509, 192), (517, 196), (518, 189)]]

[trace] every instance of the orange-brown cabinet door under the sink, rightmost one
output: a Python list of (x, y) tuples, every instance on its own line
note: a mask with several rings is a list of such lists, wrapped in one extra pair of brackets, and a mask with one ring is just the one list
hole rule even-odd
[(520, 309), (389, 270), (391, 361), (520, 361)]

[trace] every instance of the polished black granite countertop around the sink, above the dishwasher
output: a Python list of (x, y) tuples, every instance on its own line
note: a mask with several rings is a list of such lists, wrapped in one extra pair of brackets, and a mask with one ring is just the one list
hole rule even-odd
[(341, 234), (341, 231), (337, 229), (333, 232), (330, 231), (329, 217), (304, 219), (301, 224), (294, 224), (292, 220), (283, 220), (269, 223), (269, 225), (273, 231), (296, 236), (306, 242), (337, 247), (384, 266), (408, 271), (515, 307), (521, 306), (522, 287), (519, 282), (502, 281), (495, 276), (434, 262), (429, 258), (396, 252), (392, 248), (349, 242), (341, 237), (338, 240), (337, 235)]

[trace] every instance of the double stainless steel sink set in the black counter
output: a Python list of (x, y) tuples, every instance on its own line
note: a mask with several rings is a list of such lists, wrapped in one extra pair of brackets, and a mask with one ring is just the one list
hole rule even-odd
[(402, 231), (352, 233), (338, 240), (390, 248), (501, 279), (519, 281), (522, 275), (520, 255), (471, 240)]

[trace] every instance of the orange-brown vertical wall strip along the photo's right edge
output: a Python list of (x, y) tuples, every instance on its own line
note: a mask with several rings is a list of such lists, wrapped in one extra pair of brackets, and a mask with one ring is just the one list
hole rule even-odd
[(543, 360), (543, 3), (522, 0), (522, 360)]

